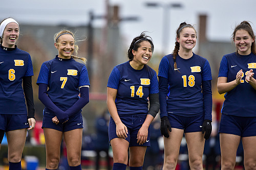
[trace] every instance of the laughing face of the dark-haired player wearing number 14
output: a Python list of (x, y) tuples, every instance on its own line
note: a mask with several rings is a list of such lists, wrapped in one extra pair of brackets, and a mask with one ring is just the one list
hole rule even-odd
[[(143, 65), (147, 64), (152, 57), (152, 47), (151, 43), (148, 41), (140, 42), (140, 47), (137, 51), (133, 50), (134, 58), (132, 63), (136, 63), (136, 65), (143, 67)], [(132, 65), (131, 63), (131, 65)]]

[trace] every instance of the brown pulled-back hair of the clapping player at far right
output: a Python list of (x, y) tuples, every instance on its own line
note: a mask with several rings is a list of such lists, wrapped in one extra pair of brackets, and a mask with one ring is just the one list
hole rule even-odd
[[(235, 29), (234, 32), (232, 34), (232, 39), (234, 41), (234, 37), (236, 36), (236, 33), (238, 30), (245, 30), (248, 32), (248, 34), (251, 36), (252, 39), (255, 39), (255, 35), (254, 32), (251, 28), (251, 25), (249, 23), (249, 21), (242, 21), (240, 23), (240, 25), (238, 25)], [(256, 55), (256, 45), (255, 45), (255, 40), (251, 43), (251, 52)], [(237, 49), (237, 54), (238, 54), (238, 49)]]

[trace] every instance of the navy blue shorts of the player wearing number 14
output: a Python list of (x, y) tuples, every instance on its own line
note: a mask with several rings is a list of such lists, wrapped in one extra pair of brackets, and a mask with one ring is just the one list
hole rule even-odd
[[(127, 127), (128, 134), (125, 140), (130, 144), (129, 147), (150, 147), (150, 127), (148, 127), (147, 139), (143, 144), (137, 143), (137, 134), (146, 119), (146, 114), (132, 114), (120, 116), (122, 123)], [(116, 124), (112, 117), (110, 117), (109, 125), (109, 141), (118, 138), (116, 135)]]

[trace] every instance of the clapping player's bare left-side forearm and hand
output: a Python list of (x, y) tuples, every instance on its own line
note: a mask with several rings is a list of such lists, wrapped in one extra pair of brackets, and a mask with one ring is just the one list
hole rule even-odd
[(227, 82), (227, 77), (219, 77), (217, 82), (218, 92), (222, 94), (237, 87), (237, 85), (241, 83), (242, 75), (243, 71), (241, 69), (237, 73), (236, 80), (233, 80), (231, 82)]

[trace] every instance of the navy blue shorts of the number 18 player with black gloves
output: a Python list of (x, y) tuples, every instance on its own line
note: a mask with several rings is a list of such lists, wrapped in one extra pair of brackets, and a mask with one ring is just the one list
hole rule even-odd
[(201, 132), (202, 128), (200, 126), (203, 125), (204, 114), (185, 117), (169, 113), (168, 119), (172, 128), (182, 129), (184, 133)]

